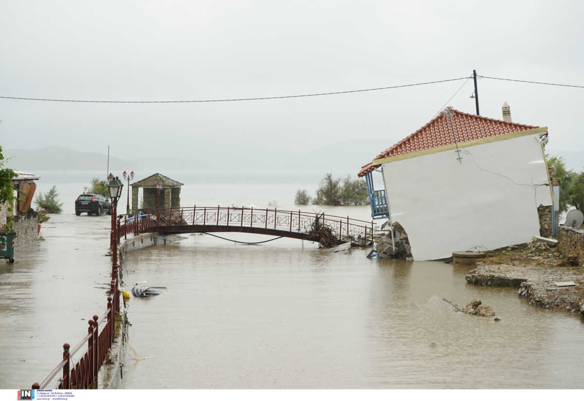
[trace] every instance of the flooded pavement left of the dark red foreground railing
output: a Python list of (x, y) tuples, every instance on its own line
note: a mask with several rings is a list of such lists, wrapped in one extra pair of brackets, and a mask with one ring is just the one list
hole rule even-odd
[[(88, 320), (106, 311), (110, 216), (51, 215), (44, 241), (0, 260), (0, 388), (30, 388), (75, 346)], [(77, 360), (78, 355), (74, 359)]]

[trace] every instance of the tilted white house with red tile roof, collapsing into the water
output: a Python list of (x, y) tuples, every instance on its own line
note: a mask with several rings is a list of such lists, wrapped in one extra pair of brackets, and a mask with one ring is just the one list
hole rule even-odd
[(530, 242), (554, 209), (543, 137), (547, 127), (511, 122), (507, 104), (503, 120), (447, 107), (361, 168), (371, 217), (399, 222), (414, 260)]

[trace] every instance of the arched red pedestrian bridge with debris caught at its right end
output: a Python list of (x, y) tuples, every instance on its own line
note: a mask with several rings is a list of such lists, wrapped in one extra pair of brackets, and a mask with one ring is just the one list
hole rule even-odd
[(138, 218), (119, 221), (119, 238), (129, 233), (180, 234), (189, 232), (246, 232), (283, 236), (335, 246), (351, 241), (366, 245), (373, 240), (373, 221), (325, 213), (255, 209), (246, 207), (162, 208), (145, 210)]

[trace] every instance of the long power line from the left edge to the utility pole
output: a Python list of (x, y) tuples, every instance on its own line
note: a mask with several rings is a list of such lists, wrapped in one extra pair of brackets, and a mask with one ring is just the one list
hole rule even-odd
[(442, 79), (441, 81), (430, 81), (420, 83), (408, 83), (406, 85), (384, 86), (383, 88), (371, 89), (357, 89), (357, 90), (341, 90), (339, 92), (325, 92), (325, 93), (310, 93), (308, 95), (286, 95), (286, 96), (270, 96), (270, 97), (242, 97), (238, 99), (210, 99), (210, 100), (72, 100), (72, 99), (42, 99), (38, 97), (13, 97), (0, 96), (0, 99), (11, 100), (38, 100), (41, 102), (74, 102), (74, 103), (207, 103), (207, 102), (242, 102), (245, 100), (270, 100), (270, 99), (289, 99), (291, 97), (308, 97), (308, 96), (326, 96), (326, 95), (341, 95), (343, 93), (357, 93), (370, 92), (372, 90), (397, 89), (406, 88), (408, 86), (429, 85), (430, 83), (440, 83), (449, 81), (460, 81), (461, 79), (468, 79), (467, 76), (463, 78)]

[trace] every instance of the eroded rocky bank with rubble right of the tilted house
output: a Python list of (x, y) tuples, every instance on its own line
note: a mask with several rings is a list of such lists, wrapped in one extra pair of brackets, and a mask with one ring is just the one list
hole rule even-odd
[[(518, 294), (541, 308), (568, 309), (584, 315), (584, 267), (568, 266), (569, 257), (541, 242), (486, 253), (466, 275), (468, 283), (519, 288)], [(555, 283), (576, 285), (558, 287)]]

